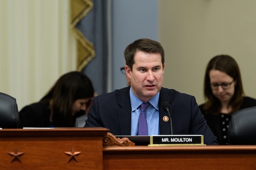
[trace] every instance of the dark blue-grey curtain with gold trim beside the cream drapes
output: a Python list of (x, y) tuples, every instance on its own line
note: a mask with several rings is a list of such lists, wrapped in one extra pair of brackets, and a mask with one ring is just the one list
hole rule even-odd
[[(83, 3), (85, 2), (87, 1), (83, 1)], [(75, 28), (89, 41), (88, 45), (86, 43), (83, 44), (83, 47), (87, 48), (87, 50), (89, 49), (89, 52), (82, 54), (84, 59), (78, 63), (78, 69), (91, 79), (96, 94), (103, 94), (107, 90), (107, 1), (93, 0), (91, 2), (93, 3), (92, 9), (75, 25)], [(88, 8), (90, 8), (90, 5), (87, 5), (83, 11)], [(78, 47), (78, 50), (81, 46)], [(95, 53), (91, 51), (92, 49), (94, 49)]]

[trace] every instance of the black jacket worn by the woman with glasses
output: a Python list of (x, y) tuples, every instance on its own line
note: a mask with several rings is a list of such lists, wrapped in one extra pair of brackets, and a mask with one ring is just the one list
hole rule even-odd
[[(225, 144), (222, 138), (222, 128), (221, 128), (221, 119), (219, 115), (213, 115), (213, 114), (205, 114), (205, 111), (203, 109), (205, 104), (202, 104), (199, 106), (201, 109), (201, 112), (204, 114), (204, 117), (206, 119), (206, 122), (211, 129), (212, 133), (217, 137), (217, 140), (220, 144)], [(245, 109), (248, 107), (253, 107), (256, 106), (256, 100), (249, 98), (249, 97), (244, 97), (244, 102), (241, 106), (241, 109)]]

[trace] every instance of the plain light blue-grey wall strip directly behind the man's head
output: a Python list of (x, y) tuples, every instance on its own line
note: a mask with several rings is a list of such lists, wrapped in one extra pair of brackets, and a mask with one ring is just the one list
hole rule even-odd
[(158, 0), (112, 0), (113, 90), (126, 85), (123, 51), (139, 38), (158, 40)]

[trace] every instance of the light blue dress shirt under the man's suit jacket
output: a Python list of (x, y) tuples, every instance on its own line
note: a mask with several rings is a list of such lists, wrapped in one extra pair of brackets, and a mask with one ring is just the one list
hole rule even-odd
[[(160, 92), (158, 92), (150, 101), (148, 101), (151, 105), (149, 105), (145, 111), (149, 136), (159, 135), (159, 94)], [(132, 88), (130, 88), (130, 100), (132, 105), (131, 135), (138, 135), (140, 105), (143, 101), (137, 98), (137, 96), (133, 93)]]

